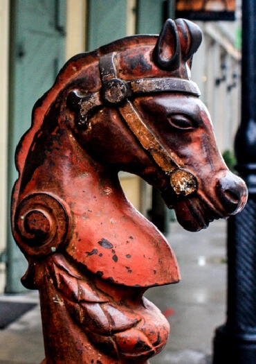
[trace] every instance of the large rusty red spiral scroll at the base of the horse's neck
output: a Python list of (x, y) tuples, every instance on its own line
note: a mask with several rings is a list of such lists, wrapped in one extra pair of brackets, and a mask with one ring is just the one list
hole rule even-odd
[(33, 193), (17, 207), (14, 236), (25, 254), (44, 257), (64, 243), (68, 225), (68, 213), (60, 200), (47, 193)]

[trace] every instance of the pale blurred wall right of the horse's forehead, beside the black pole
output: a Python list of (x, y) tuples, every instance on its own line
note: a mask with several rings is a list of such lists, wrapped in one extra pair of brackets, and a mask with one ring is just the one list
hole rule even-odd
[(224, 26), (200, 22), (199, 26), (203, 31), (203, 44), (194, 55), (192, 80), (201, 89), (201, 99), (212, 116), (217, 144), (223, 153), (233, 150), (240, 120), (241, 52), (235, 48), (234, 37), (239, 21), (226, 22)]

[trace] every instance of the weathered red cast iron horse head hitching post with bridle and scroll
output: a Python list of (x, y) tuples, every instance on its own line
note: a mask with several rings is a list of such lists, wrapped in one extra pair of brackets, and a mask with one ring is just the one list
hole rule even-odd
[(45, 363), (147, 363), (169, 325), (143, 293), (179, 281), (165, 238), (118, 172), (162, 192), (190, 231), (239, 212), (246, 186), (223, 162), (190, 80), (201, 31), (167, 20), (76, 55), (37, 101), (17, 148), (12, 229), (40, 291)]

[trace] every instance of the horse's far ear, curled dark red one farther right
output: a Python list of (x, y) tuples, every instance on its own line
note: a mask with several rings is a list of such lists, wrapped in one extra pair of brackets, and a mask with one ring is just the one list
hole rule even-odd
[(199, 49), (202, 42), (202, 32), (199, 26), (187, 19), (176, 19), (175, 24), (179, 33), (182, 58), (186, 62)]

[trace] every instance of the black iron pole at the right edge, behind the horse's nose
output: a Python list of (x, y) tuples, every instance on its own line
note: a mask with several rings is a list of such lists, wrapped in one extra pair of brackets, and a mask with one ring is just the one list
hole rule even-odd
[(214, 364), (256, 363), (256, 1), (242, 0), (241, 125), (237, 171), (248, 203), (228, 220), (228, 310), (216, 330)]

